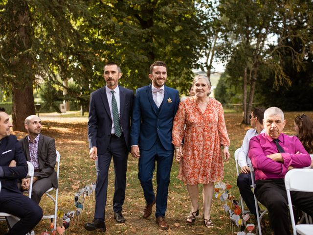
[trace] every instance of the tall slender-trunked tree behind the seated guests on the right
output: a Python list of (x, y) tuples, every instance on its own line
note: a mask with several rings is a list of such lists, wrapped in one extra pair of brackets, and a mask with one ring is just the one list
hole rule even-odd
[[(290, 77), (283, 68), (284, 57), (278, 53), (279, 48), (290, 50), (292, 64), (299, 66), (304, 54), (292, 47), (286, 47), (284, 41), (294, 37), (302, 38), (301, 44), (307, 41), (307, 32), (301, 28), (291, 31), (294, 18), (298, 14), (307, 14), (300, 1), (276, 0), (221, 0), (220, 10), (228, 18), (227, 33), (234, 42), (231, 47), (231, 58), (227, 69), (232, 73), (236, 64), (240, 69), (243, 86), (243, 123), (249, 123), (249, 114), (258, 84), (258, 74), (261, 66), (267, 66), (274, 74), (273, 86), (290, 86)], [(299, 12), (299, 5), (301, 13)], [(305, 5), (305, 3), (304, 3)], [(308, 26), (309, 27), (309, 26)], [(245, 55), (245, 56), (243, 56)], [(238, 63), (238, 60), (243, 60)], [(263, 67), (264, 68), (264, 67)], [(238, 70), (236, 68), (235, 70)], [(238, 79), (238, 77), (232, 77)]]

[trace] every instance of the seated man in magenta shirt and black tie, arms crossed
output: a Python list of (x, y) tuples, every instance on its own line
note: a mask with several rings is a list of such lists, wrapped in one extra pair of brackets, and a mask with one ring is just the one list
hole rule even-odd
[[(286, 120), (277, 107), (264, 113), (266, 133), (249, 142), (248, 156), (254, 171), (257, 199), (267, 207), (275, 235), (290, 235), (289, 210), (284, 178), (288, 170), (311, 164), (310, 155), (295, 136), (282, 134)], [(294, 206), (313, 216), (313, 193), (291, 192)]]

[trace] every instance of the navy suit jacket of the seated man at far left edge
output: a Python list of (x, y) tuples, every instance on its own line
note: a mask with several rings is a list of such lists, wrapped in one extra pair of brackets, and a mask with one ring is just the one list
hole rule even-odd
[[(16, 161), (15, 167), (9, 166), (12, 160)], [(8, 191), (21, 193), (18, 189), (18, 179), (26, 177), (28, 167), (22, 145), (14, 135), (4, 137), (1, 141), (0, 166), (4, 173), (3, 177), (0, 178), (1, 187)]]

